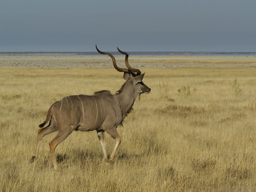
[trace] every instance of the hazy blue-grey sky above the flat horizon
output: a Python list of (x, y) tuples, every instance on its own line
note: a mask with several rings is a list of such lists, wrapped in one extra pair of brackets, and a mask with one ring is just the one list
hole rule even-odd
[(2, 0), (0, 52), (256, 51), (255, 0)]

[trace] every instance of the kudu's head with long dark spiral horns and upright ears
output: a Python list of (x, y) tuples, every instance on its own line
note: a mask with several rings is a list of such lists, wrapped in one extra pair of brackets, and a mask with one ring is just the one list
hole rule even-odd
[[(124, 72), (124, 79), (126, 80), (126, 82), (124, 83), (125, 86), (129, 86), (129, 90), (134, 90), (134, 92), (137, 94), (137, 98), (140, 99), (140, 96), (143, 94), (143, 93), (150, 93), (151, 89), (145, 85), (143, 82), (142, 82), (142, 79), (145, 75), (145, 73), (141, 74), (140, 70), (139, 69), (135, 69), (135, 68), (132, 68), (129, 63), (128, 63), (128, 53), (126, 52), (123, 52), (121, 51), (120, 49), (118, 49), (117, 47), (117, 50), (124, 54), (125, 55), (125, 64), (127, 66), (127, 68), (119, 68), (117, 67), (116, 65), (116, 59), (114, 58), (113, 55), (111, 55), (110, 53), (108, 52), (102, 52), (100, 51), (98, 48), (97, 48), (97, 45), (96, 45), (96, 49), (97, 51), (100, 53), (100, 54), (105, 54), (105, 55), (108, 55), (109, 57), (111, 57), (112, 61), (113, 61), (113, 65), (115, 67), (115, 69), (117, 71), (120, 71), (120, 72)], [(123, 85), (123, 86), (124, 86)], [(123, 88), (123, 87), (122, 87)], [(122, 88), (118, 91), (118, 92), (122, 92)]]

